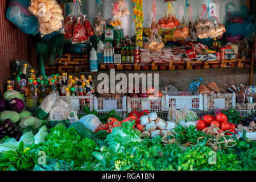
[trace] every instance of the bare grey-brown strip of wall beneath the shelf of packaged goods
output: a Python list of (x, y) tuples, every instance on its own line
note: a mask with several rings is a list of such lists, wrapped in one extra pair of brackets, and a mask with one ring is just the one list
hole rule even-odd
[[(106, 73), (110, 75), (110, 71), (90, 73), (94, 81), (94, 85), (97, 85), (101, 81), (96, 81), (97, 76), (100, 73)], [(220, 89), (224, 89), (224, 84), (240, 84), (248, 85), (250, 78), (250, 69), (247, 68), (216, 68), (216, 69), (194, 69), (194, 70), (180, 70), (180, 71), (115, 71), (115, 75), (118, 73), (159, 73), (159, 89), (163, 90), (164, 86), (174, 85), (180, 91), (188, 89), (188, 85), (192, 80), (202, 78), (203, 84), (205, 82), (216, 82)], [(79, 74), (80, 75), (80, 74)], [(89, 73), (85, 73), (89, 75)], [(110, 78), (109, 78), (110, 79)], [(117, 81), (118, 82), (118, 81)], [(254, 73), (253, 85), (256, 85), (256, 72)]]

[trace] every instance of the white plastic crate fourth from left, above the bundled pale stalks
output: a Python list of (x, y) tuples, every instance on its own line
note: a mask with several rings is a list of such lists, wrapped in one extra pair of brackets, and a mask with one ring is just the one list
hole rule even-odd
[(176, 109), (187, 107), (190, 110), (204, 110), (203, 96), (166, 96), (166, 111), (172, 106)]

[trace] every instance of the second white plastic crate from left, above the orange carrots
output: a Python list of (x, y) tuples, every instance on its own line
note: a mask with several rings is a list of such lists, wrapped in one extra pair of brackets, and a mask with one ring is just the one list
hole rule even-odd
[(120, 98), (93, 98), (93, 107), (97, 112), (108, 112), (115, 110), (116, 112), (127, 111), (126, 97)]

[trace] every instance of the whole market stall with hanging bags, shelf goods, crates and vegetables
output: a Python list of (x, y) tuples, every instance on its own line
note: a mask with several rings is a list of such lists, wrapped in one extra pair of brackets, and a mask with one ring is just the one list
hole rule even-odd
[[(255, 171), (249, 1), (10, 0), (6, 18), (34, 38), (37, 64), (5, 70), (0, 170)], [(232, 79), (239, 69), (250, 81)], [(142, 72), (162, 76), (118, 82)]]

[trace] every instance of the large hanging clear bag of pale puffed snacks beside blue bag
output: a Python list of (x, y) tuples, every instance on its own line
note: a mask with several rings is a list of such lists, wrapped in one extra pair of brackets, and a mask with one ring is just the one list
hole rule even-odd
[(63, 28), (63, 12), (56, 0), (31, 0), (28, 11), (38, 18), (42, 36)]

